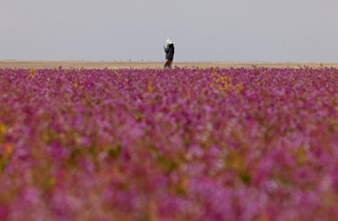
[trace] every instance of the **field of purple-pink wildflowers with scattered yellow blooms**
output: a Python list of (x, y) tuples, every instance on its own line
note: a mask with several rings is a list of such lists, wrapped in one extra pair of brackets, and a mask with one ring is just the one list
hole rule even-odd
[(334, 220), (338, 69), (0, 69), (0, 220)]

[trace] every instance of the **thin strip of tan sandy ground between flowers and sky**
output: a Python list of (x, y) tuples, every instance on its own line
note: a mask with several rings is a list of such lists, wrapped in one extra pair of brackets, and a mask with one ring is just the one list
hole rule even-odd
[[(91, 62), (91, 61), (0, 61), (0, 68), (86, 68), (86, 69), (120, 69), (120, 68), (134, 68), (134, 69), (157, 69), (162, 68), (163, 62)], [(187, 68), (239, 68), (239, 67), (292, 67), (299, 68), (309, 66), (314, 68), (320, 67), (334, 67), (338, 68), (338, 63), (233, 63), (233, 62), (173, 62), (173, 66), (187, 67)]]

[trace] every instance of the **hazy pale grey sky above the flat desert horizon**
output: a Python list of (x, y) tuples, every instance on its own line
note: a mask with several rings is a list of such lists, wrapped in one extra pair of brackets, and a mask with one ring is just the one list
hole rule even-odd
[(0, 59), (338, 62), (338, 0), (0, 0)]

